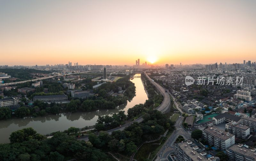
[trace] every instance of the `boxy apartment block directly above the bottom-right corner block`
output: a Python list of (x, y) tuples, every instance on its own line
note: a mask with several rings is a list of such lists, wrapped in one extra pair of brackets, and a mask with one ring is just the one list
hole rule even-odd
[(250, 134), (250, 127), (241, 125), (237, 122), (229, 122), (226, 124), (226, 130), (230, 134), (234, 134), (236, 137), (245, 139), (247, 135)]

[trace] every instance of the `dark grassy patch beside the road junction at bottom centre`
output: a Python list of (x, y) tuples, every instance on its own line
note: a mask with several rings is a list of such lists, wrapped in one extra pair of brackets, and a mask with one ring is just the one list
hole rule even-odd
[[(166, 135), (166, 138), (169, 138), (171, 136), (171, 134), (172, 134), (172, 132), (168, 132)], [(150, 142), (150, 143), (143, 144), (140, 147), (140, 149), (138, 150), (138, 152), (135, 154), (134, 159), (136, 159), (137, 161), (145, 161), (145, 159), (148, 159), (148, 156), (150, 153), (150, 157), (148, 160), (151, 161), (156, 156), (157, 152), (164, 145), (164, 142), (167, 140), (166, 138), (164, 140), (163, 140), (163, 138), (161, 138), (160, 140), (158, 140), (156, 142)], [(159, 145), (159, 143), (161, 143), (161, 144)]]

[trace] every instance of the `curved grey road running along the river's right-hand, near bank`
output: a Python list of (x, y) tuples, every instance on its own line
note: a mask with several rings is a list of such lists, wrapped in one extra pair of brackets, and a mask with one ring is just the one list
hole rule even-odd
[[(145, 74), (146, 74), (146, 73), (145, 73)], [(152, 82), (152, 84), (153, 84), (154, 86), (156, 86), (156, 88), (157, 88), (157, 89), (161, 92), (161, 94), (164, 96), (164, 100), (163, 100), (162, 104), (160, 104), (160, 106), (158, 106), (158, 107), (156, 108), (156, 110), (161, 111), (161, 112), (165, 112), (165, 111), (169, 108), (170, 103), (171, 103), (169, 94), (168, 94), (167, 92), (165, 92), (165, 89), (164, 89), (162, 86), (160, 86), (160, 85), (157, 84), (155, 81), (153, 81), (151, 78), (149, 78), (149, 76), (148, 76), (147, 74), (146, 74), (146, 76), (147, 76), (148, 79)], [(136, 120), (134, 120), (134, 121), (131, 121), (131, 122), (127, 123), (127, 124), (124, 124), (124, 125), (122, 125), (121, 127), (116, 127), (116, 128), (114, 128), (114, 129), (108, 130), (107, 132), (108, 132), (108, 134), (112, 134), (112, 131), (124, 130), (125, 127), (129, 127), (130, 124), (132, 124), (133, 122), (138, 122), (138, 123), (140, 123), (140, 122), (142, 122), (142, 121), (143, 121), (143, 118), (142, 118), (142, 117), (139, 117), (138, 119), (136, 119)], [(83, 138), (78, 138), (78, 140), (88, 141), (89, 139), (88, 139), (88, 137), (83, 137)]]

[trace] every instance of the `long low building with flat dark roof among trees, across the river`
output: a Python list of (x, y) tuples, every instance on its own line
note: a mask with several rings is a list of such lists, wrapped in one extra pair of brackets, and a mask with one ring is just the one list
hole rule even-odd
[(43, 102), (65, 102), (68, 101), (66, 95), (49, 95), (49, 96), (34, 96), (34, 101), (39, 100)]

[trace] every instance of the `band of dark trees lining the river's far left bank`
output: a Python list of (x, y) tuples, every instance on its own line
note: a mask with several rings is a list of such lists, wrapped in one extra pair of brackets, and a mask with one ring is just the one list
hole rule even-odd
[[(99, 95), (86, 99), (73, 98), (69, 103), (51, 103), (47, 104), (42, 101), (35, 101), (34, 107), (21, 106), (15, 110), (15, 114), (12, 115), (12, 110), (7, 107), (0, 108), (1, 119), (11, 118), (24, 118), (24, 117), (37, 117), (45, 116), (49, 114), (60, 114), (76, 111), (95, 111), (100, 109), (115, 109), (127, 101), (131, 100), (135, 96), (135, 85), (130, 80), (129, 76), (125, 76), (114, 83), (105, 83), (95, 90)], [(110, 91), (118, 91), (118, 87), (124, 90), (123, 96), (109, 96), (107, 93)], [(57, 94), (63, 94), (63, 91)], [(42, 95), (42, 93), (35, 93), (31, 96)], [(48, 94), (49, 95), (49, 94)], [(23, 97), (24, 98), (24, 97)]]

